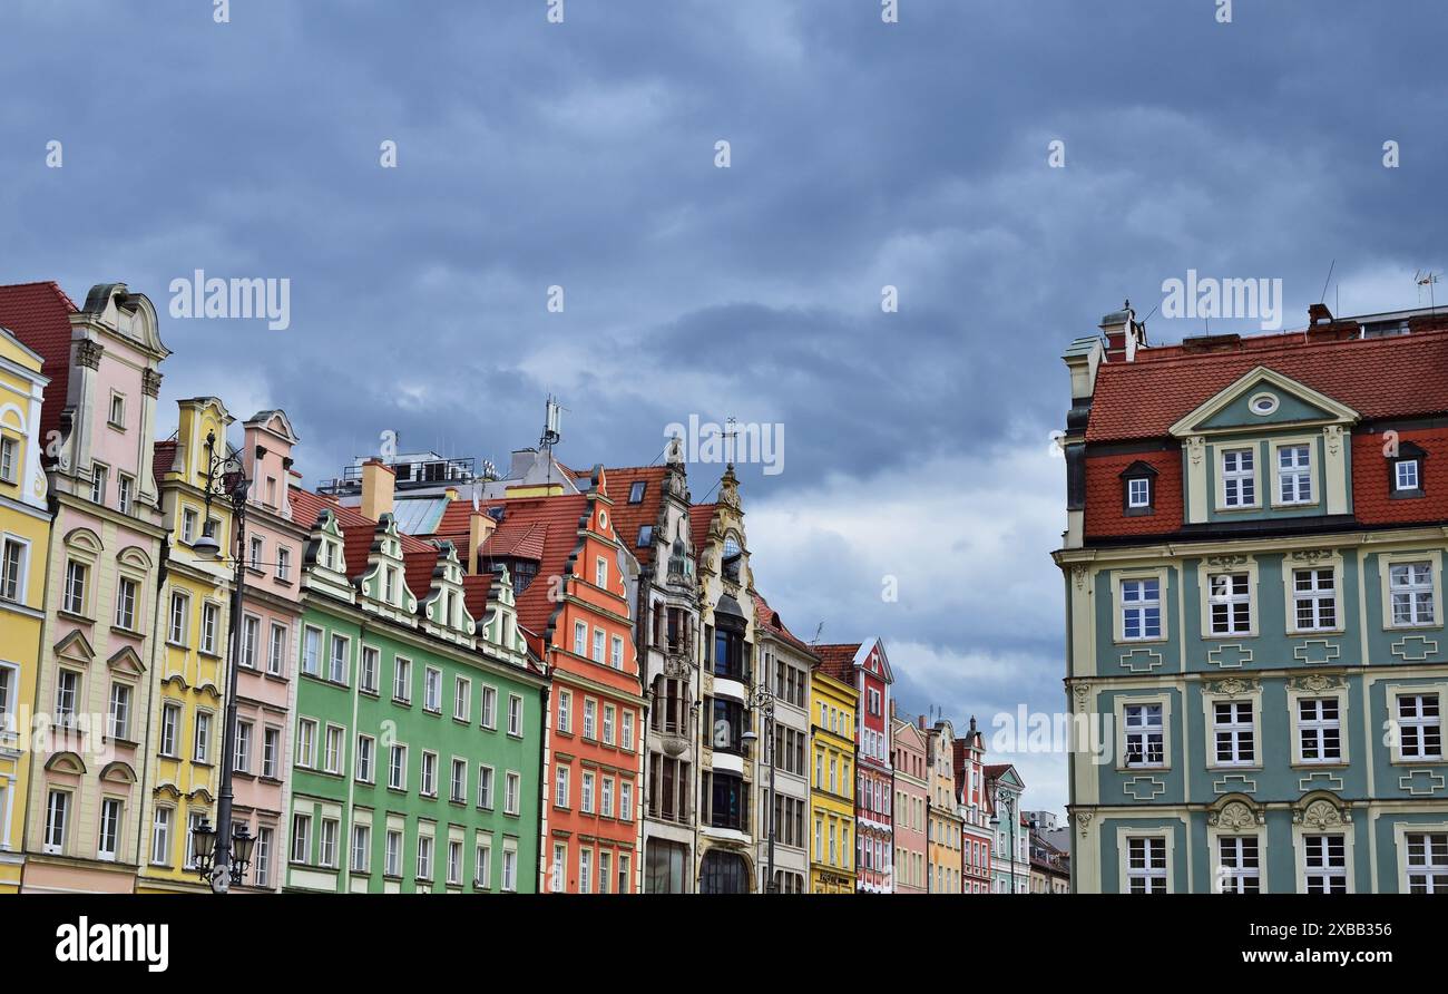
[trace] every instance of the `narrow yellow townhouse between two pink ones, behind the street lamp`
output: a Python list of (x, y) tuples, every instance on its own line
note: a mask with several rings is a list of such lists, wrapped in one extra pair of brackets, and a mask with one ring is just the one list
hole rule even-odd
[[(155, 475), (168, 530), (165, 582), (156, 604), (158, 691), (146, 736), (142, 826), (149, 833), (138, 893), (203, 891), (191, 858), (191, 833), (216, 820), (222, 769), (226, 659), (230, 653), (232, 510), (206, 504), (207, 467), (227, 452), (232, 416), (216, 397), (180, 401), (174, 439), (155, 446)], [(213, 533), (223, 556), (193, 546)], [(256, 568), (264, 568), (258, 564)], [(240, 665), (258, 665), (261, 636), (243, 629)], [(249, 743), (252, 752), (259, 746)]]

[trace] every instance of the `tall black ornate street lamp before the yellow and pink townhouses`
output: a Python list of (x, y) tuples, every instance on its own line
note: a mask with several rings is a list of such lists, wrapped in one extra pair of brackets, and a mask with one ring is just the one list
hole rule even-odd
[[(232, 830), (232, 772), (236, 764), (236, 671), (242, 658), (242, 584), (246, 562), (243, 558), (246, 535), (246, 493), (251, 481), (235, 452), (216, 454), (216, 432), (206, 436), (206, 507), (213, 498), (230, 501), (236, 522), (236, 540), (232, 577), (230, 659), (226, 667), (226, 720), (222, 732), (222, 784), (217, 791), (216, 827), (203, 822), (193, 838), (193, 856), (203, 880), (210, 880), (214, 894), (226, 894), (232, 884), (240, 884), (251, 864), (255, 839), (242, 826)], [(222, 545), (207, 525), (204, 535), (193, 546), (198, 554), (222, 556)], [(214, 848), (211, 839), (214, 838)], [(235, 848), (235, 852), (233, 852)], [(233, 859), (235, 855), (235, 859)]]

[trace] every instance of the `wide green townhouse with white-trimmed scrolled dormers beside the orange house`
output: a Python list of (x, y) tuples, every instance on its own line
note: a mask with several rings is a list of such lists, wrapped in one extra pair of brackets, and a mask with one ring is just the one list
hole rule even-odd
[(307, 497), (285, 890), (533, 893), (546, 680), (507, 574)]

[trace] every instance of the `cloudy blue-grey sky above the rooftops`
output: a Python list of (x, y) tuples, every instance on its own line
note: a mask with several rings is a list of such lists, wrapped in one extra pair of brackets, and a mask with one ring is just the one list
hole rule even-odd
[[(1329, 265), (1365, 313), (1445, 262), (1438, 0), (213, 6), (6, 0), (0, 283), (290, 280), (287, 330), (164, 316), (162, 427), (284, 407), (308, 483), (385, 429), (504, 461), (550, 391), (575, 465), (780, 425), (760, 588), (957, 724), (1061, 707), (1072, 338), (1192, 268), (1281, 278), (1292, 327)], [(1008, 758), (1064, 807), (1060, 755)]]

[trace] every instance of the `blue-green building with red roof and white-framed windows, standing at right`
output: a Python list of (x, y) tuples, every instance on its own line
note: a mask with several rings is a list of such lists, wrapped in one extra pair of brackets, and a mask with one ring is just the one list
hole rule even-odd
[(1448, 336), (1138, 329), (1066, 356), (1074, 888), (1448, 891), (1448, 420), (1371, 385)]

